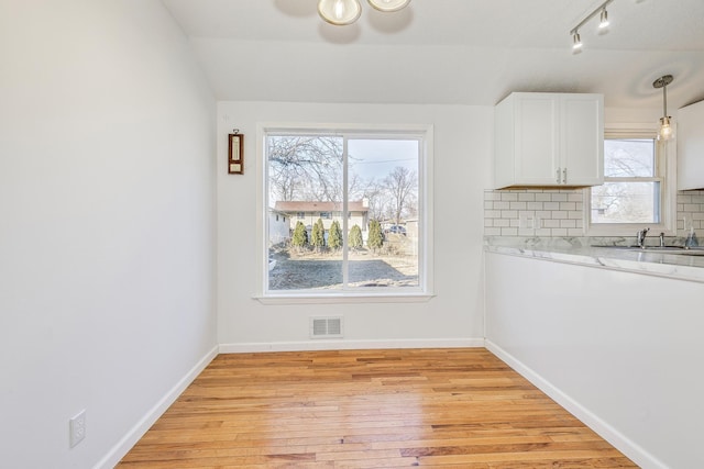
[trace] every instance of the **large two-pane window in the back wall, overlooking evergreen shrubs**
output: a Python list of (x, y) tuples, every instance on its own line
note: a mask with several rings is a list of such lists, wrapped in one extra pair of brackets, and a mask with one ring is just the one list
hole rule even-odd
[(262, 138), (263, 297), (430, 293), (428, 129), (277, 127)]

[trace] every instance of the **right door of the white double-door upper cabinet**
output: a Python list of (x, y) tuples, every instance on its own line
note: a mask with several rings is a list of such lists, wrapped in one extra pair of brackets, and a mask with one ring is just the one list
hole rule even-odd
[(563, 185), (604, 183), (603, 99), (601, 94), (561, 96), (560, 167)]

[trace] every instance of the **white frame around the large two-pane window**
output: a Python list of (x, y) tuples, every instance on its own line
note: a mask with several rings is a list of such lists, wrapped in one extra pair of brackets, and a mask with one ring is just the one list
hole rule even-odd
[[(337, 134), (354, 135), (355, 138), (419, 138), (421, 145), (418, 165), (418, 192), (420, 228), (418, 233), (418, 277), (417, 288), (329, 290), (329, 291), (287, 291), (267, 290), (268, 280), (268, 194), (266, 136), (270, 133), (300, 133), (300, 134)], [(344, 148), (346, 152), (346, 145)], [(257, 213), (257, 290), (253, 298), (264, 304), (297, 304), (297, 303), (403, 303), (424, 302), (435, 297), (433, 286), (433, 126), (424, 124), (319, 124), (319, 123), (258, 123), (256, 126), (256, 213)]]

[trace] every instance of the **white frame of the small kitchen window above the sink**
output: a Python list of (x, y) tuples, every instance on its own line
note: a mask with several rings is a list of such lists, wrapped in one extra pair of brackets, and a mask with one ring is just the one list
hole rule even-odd
[[(656, 138), (658, 130), (654, 126), (632, 124), (618, 129), (606, 129), (604, 139), (615, 138)], [(660, 182), (660, 223), (592, 223), (592, 189), (584, 189), (584, 230), (586, 236), (617, 236), (636, 237), (636, 233), (645, 227), (650, 234), (664, 233), (667, 236), (676, 235), (676, 167), (674, 141), (656, 139), (656, 175)], [(605, 178), (605, 180), (608, 178)], [(638, 178), (632, 178), (637, 181)]]

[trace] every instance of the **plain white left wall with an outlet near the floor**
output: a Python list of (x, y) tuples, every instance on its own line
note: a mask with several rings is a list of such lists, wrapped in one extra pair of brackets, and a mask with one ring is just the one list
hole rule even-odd
[(0, 103), (1, 465), (108, 467), (217, 346), (215, 100), (158, 0), (0, 0)]

